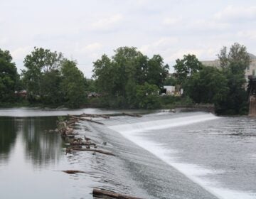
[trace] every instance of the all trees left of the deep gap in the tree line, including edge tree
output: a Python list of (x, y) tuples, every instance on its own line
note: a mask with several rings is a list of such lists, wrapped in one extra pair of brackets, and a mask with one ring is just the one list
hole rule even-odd
[[(18, 91), (26, 90), (29, 104), (80, 107), (87, 100), (87, 82), (74, 61), (62, 53), (34, 48), (24, 59), (25, 70), (18, 75), (9, 51), (0, 50), (0, 102), (21, 100)], [(15, 93), (16, 92), (16, 93)]]

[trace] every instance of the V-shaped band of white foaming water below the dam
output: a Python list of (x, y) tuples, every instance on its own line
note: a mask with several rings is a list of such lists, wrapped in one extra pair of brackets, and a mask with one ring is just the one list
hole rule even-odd
[(154, 156), (157, 156), (162, 161), (168, 163), (170, 166), (176, 168), (178, 171), (186, 175), (191, 181), (198, 183), (201, 187), (208, 190), (218, 198), (223, 199), (252, 199), (256, 198), (255, 193), (245, 193), (238, 190), (231, 190), (228, 188), (221, 188), (220, 183), (217, 181), (206, 180), (207, 174), (214, 174), (225, 171), (213, 171), (208, 168), (203, 168), (193, 163), (181, 163), (177, 161), (178, 151), (173, 149), (166, 149), (156, 141), (146, 139), (144, 136), (146, 131), (152, 131), (156, 129), (169, 129), (171, 127), (181, 127), (184, 125), (195, 124), (198, 122), (206, 122), (213, 119), (220, 119), (213, 114), (196, 114), (193, 116), (176, 117), (171, 119), (162, 119), (150, 122), (138, 122), (134, 124), (121, 124), (110, 126), (109, 128), (119, 132), (125, 138), (134, 142), (138, 146), (149, 151)]

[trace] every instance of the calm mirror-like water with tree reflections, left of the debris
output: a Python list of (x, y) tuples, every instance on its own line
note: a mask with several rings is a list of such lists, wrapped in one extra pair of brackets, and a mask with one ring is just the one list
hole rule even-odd
[(1, 198), (61, 194), (65, 176), (53, 170), (63, 161), (62, 141), (57, 134), (44, 132), (55, 127), (55, 119), (0, 117)]

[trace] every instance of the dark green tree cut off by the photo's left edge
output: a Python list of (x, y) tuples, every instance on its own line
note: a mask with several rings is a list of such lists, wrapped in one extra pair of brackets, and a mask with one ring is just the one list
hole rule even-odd
[(0, 49), (0, 102), (14, 100), (18, 80), (17, 68), (12, 62), (11, 54), (8, 50)]

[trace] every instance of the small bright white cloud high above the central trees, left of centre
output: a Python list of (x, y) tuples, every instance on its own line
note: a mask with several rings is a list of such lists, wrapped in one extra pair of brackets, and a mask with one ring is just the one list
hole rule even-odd
[(91, 28), (93, 30), (109, 30), (117, 26), (123, 19), (121, 14), (114, 14), (106, 18), (100, 18), (92, 22)]

